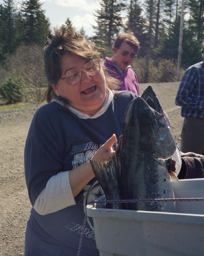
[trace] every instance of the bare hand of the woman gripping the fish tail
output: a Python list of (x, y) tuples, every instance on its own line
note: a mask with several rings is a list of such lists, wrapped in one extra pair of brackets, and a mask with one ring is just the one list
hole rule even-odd
[(112, 148), (113, 144), (115, 143), (116, 136), (113, 134), (110, 139), (108, 139), (95, 153), (92, 157), (92, 160), (97, 160), (100, 162), (108, 161), (109, 157), (114, 154), (114, 150)]

